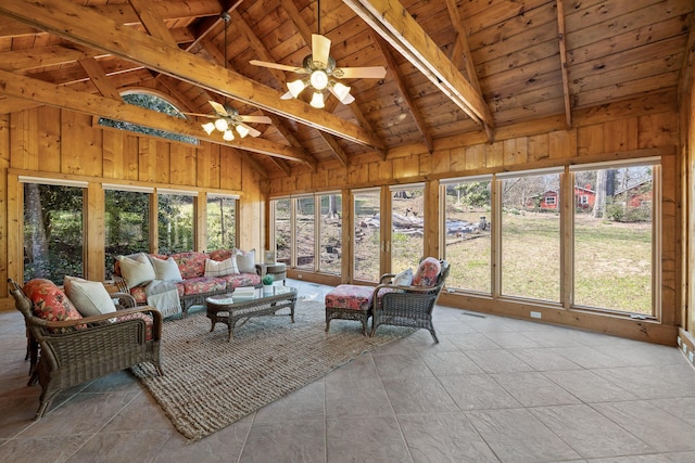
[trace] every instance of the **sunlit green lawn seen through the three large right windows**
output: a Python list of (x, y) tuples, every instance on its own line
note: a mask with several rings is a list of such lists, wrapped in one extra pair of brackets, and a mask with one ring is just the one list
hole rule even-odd
[[(552, 215), (503, 217), (502, 293), (559, 301), (559, 221)], [(650, 224), (578, 216), (574, 226), (574, 304), (652, 313)], [(448, 286), (490, 293), (490, 237), (450, 244)]]

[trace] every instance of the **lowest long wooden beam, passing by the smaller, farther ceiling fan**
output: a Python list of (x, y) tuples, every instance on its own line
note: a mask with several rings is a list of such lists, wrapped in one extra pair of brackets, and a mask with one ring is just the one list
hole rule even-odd
[(277, 156), (290, 160), (311, 163), (306, 155), (292, 146), (273, 143), (268, 140), (248, 137), (242, 140), (235, 139), (225, 142), (217, 137), (208, 136), (201, 128), (200, 124), (167, 116), (156, 111), (146, 110), (132, 104), (118, 102), (99, 95), (85, 92), (76, 92), (63, 86), (47, 83), (41, 80), (31, 79), (26, 76), (0, 70), (0, 89), (2, 93), (11, 98), (30, 100), (49, 106), (61, 107), (78, 113), (93, 116), (108, 117), (110, 119), (123, 120), (137, 124), (153, 129), (173, 131), (184, 136), (194, 137), (199, 140), (208, 141), (215, 144), (224, 144), (252, 153)]

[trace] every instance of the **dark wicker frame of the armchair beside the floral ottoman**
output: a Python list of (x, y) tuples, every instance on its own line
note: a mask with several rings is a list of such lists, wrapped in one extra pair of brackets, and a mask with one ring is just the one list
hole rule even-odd
[[(433, 286), (397, 286), (391, 283), (382, 283), (375, 288), (371, 310), (371, 336), (374, 336), (379, 325), (390, 324), (427, 329), (432, 334), (434, 342), (439, 343), (432, 324), (432, 310), (450, 271), (450, 265), (446, 260), (440, 260), (439, 262), (441, 270)], [(390, 274), (390, 276), (395, 275)], [(379, 295), (380, 297), (377, 297)]]

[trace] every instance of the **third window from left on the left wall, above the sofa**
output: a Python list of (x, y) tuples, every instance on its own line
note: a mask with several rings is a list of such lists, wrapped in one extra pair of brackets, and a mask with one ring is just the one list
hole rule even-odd
[(193, 250), (194, 194), (170, 190), (159, 190), (157, 193), (157, 252)]

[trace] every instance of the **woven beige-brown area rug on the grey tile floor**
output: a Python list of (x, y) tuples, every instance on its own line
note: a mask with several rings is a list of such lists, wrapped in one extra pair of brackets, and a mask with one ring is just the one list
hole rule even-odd
[[(278, 313), (289, 313), (282, 309)], [(235, 330), (210, 332), (205, 312), (165, 321), (164, 376), (141, 364), (135, 375), (160, 403), (174, 426), (191, 440), (205, 437), (256, 411), (350, 360), (407, 336), (410, 329), (380, 326), (375, 337), (357, 321), (331, 321), (316, 300), (298, 301), (289, 317), (257, 317)]]

